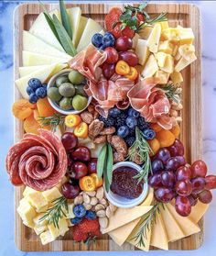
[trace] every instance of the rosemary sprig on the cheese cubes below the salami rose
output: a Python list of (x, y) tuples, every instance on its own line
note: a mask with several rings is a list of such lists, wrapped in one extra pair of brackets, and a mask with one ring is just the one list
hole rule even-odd
[(39, 218), (39, 222), (47, 219), (49, 224), (53, 223), (55, 228), (59, 228), (59, 219), (66, 217), (66, 213), (69, 211), (68, 201), (64, 196), (60, 196), (52, 203), (54, 203), (54, 206), (50, 207), (43, 217)]

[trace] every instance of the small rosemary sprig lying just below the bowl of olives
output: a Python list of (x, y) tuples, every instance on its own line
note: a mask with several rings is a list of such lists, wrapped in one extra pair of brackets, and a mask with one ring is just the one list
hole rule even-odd
[(51, 130), (53, 132), (56, 131), (56, 128), (58, 126), (64, 125), (65, 116), (62, 116), (60, 114), (54, 114), (49, 117), (38, 117), (38, 122), (42, 127), (51, 127)]

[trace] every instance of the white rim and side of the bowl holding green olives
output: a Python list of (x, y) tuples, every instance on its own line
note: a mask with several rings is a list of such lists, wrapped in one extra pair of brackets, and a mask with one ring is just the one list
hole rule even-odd
[[(65, 69), (65, 70), (62, 70), (62, 71), (56, 73), (55, 75), (53, 75), (53, 76), (50, 78), (50, 80), (49, 80), (48, 89), (49, 89), (49, 87), (53, 87), (53, 86), (55, 85), (56, 80), (57, 80), (57, 78), (58, 78), (59, 76), (69, 74), (70, 71), (72, 71), (72, 70), (70, 70), (70, 69)], [(54, 109), (56, 109), (59, 113), (61, 113), (61, 114), (67, 116), (67, 115), (71, 115), (71, 114), (80, 114), (82, 111), (84, 111), (84, 110), (91, 104), (91, 102), (92, 102), (92, 96), (91, 96), (91, 97), (88, 97), (88, 103), (87, 103), (86, 107), (83, 108), (83, 109), (81, 109), (81, 110), (74, 110), (74, 109), (63, 110), (63, 109), (61, 109), (61, 108), (59, 107), (59, 105), (58, 105), (56, 102), (54, 102), (54, 101), (52, 101), (51, 99), (49, 99), (49, 97), (48, 97), (48, 100), (49, 100), (49, 104), (50, 104)]]

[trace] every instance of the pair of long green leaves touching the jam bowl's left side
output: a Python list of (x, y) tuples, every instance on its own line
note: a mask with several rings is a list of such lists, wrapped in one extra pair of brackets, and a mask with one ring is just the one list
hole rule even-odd
[(106, 192), (109, 192), (113, 178), (113, 150), (110, 143), (104, 144), (97, 161), (97, 176), (100, 180), (103, 176)]

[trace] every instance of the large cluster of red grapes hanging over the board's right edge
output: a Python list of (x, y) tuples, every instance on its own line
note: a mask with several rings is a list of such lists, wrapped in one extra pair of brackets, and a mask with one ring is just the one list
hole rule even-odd
[(209, 204), (211, 189), (216, 188), (216, 176), (207, 174), (204, 161), (194, 161), (190, 166), (184, 158), (184, 147), (176, 139), (169, 148), (161, 148), (152, 159), (153, 174), (148, 184), (155, 189), (158, 202), (168, 203), (175, 198), (175, 208), (180, 216), (187, 217), (191, 206), (200, 200)]

